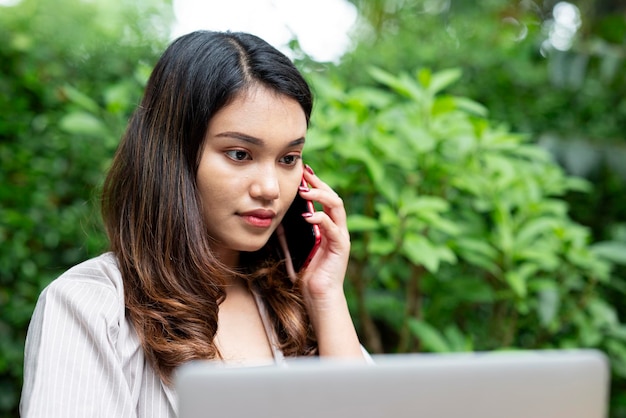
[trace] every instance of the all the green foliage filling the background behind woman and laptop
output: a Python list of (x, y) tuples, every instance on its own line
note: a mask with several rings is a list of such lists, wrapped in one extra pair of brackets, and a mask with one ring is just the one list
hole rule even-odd
[[(39, 292), (106, 246), (98, 188), (171, 23), (167, 2), (126, 3), (0, 7), (0, 416)], [(626, 417), (625, 5), (576, 2), (559, 51), (553, 1), (354, 3), (354, 50), (297, 64), (365, 345), (600, 348)]]

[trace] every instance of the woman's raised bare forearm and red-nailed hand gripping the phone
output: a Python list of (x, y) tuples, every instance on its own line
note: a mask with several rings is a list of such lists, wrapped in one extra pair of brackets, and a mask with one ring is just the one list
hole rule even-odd
[(311, 184), (301, 195), (319, 202), (323, 212), (307, 218), (322, 231), (320, 248), (303, 272), (302, 288), (321, 356), (363, 358), (343, 290), (350, 256), (350, 236), (343, 201), (326, 183), (305, 170)]

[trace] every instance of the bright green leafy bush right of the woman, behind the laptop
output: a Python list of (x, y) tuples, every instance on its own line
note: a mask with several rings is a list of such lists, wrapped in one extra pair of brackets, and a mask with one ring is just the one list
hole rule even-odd
[(345, 200), (366, 346), (594, 347), (623, 381), (626, 327), (603, 294), (618, 244), (592, 245), (561, 199), (589, 184), (480, 104), (443, 94), (460, 71), (370, 74), (378, 87), (347, 91), (313, 76), (305, 155)]

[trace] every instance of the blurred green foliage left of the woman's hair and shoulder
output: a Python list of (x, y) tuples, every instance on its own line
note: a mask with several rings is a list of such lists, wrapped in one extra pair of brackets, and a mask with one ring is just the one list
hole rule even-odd
[(0, 6), (0, 416), (17, 415), (39, 292), (106, 248), (97, 190), (170, 13), (145, 1)]

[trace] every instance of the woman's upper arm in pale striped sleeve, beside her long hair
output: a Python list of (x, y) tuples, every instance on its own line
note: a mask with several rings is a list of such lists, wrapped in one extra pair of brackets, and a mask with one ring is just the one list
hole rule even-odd
[(112, 286), (67, 273), (44, 290), (26, 340), (23, 417), (135, 416), (115, 350), (120, 303)]

